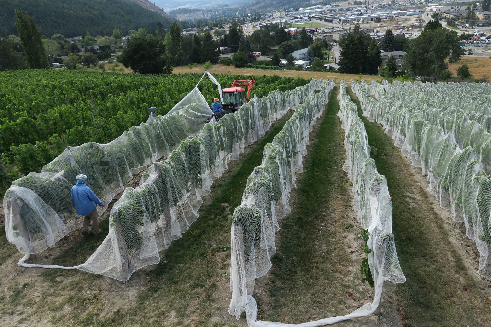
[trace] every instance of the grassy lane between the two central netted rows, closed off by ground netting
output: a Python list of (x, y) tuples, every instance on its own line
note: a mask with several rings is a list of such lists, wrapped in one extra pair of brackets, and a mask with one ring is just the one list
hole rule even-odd
[(348, 218), (353, 211), (347, 196), (349, 180), (343, 171), (346, 151), (344, 132), (336, 117), (337, 94), (335, 87), (304, 158), (304, 171), (290, 200), (292, 211), (281, 222), (278, 252), (272, 260), (272, 310), (260, 312), (260, 319), (301, 323), (353, 309), (353, 300), (346, 294), (350, 290), (356, 294), (354, 289), (359, 286), (354, 287), (344, 277), (351, 277), (347, 267), (357, 272), (360, 263), (352, 262), (345, 247), (346, 228), (356, 223)]

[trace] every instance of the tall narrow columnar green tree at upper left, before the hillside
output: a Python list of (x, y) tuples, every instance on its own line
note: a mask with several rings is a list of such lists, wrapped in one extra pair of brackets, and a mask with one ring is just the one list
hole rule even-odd
[(27, 57), (27, 63), (30, 68), (43, 69), (50, 68), (48, 57), (46, 56), (41, 34), (34, 24), (34, 21), (27, 12), (15, 10), (17, 21), (17, 34), (21, 39), (22, 48)]

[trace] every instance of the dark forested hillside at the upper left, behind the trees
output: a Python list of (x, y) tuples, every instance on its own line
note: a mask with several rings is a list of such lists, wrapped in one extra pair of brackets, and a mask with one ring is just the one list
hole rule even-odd
[(144, 26), (171, 23), (163, 9), (146, 0), (0, 0), (0, 35), (17, 34), (14, 9), (26, 10), (42, 35), (111, 35)]

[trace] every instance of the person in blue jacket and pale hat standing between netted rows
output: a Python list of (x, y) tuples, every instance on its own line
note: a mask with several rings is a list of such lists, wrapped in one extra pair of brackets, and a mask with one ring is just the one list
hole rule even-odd
[(97, 205), (104, 206), (101, 200), (92, 192), (90, 187), (85, 185), (87, 176), (78, 175), (77, 184), (72, 187), (72, 204), (75, 206), (77, 214), (85, 216), (83, 220), (82, 234), (89, 234), (89, 225), (92, 222), (92, 232), (94, 236), (102, 232), (99, 229), (99, 214), (97, 213)]

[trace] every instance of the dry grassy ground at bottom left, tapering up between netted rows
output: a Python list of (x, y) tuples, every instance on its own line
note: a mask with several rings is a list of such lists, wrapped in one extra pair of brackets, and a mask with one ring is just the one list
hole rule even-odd
[[(235, 322), (227, 311), (230, 211), (240, 204), (247, 176), (262, 161), (264, 145), (292, 113), (248, 147), (241, 160), (229, 164), (226, 176), (216, 180), (212, 193), (205, 197), (200, 218), (163, 253), (161, 263), (141, 269), (126, 283), (78, 270), (16, 267), (20, 253), (9, 252), (11, 257), (0, 266), (7, 280), (1, 285), (2, 324), (227, 326), (228, 321)], [(73, 232), (36, 261), (66, 266), (82, 263), (107, 234), (107, 219), (101, 228), (103, 233), (97, 237), (82, 238)], [(15, 253), (19, 257), (12, 255)]]

